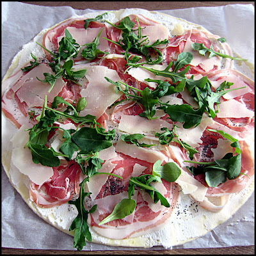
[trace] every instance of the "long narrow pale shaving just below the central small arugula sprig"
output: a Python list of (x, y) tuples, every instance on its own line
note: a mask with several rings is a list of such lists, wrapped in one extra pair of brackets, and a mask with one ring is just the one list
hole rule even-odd
[(116, 152), (120, 152), (127, 156), (131, 156), (132, 158), (138, 158), (149, 163), (156, 163), (157, 160), (160, 160), (161, 163), (163, 163), (163, 161), (167, 158), (164, 156), (164, 154), (157, 150), (138, 147), (134, 144), (125, 143), (122, 140), (118, 140), (116, 143)]

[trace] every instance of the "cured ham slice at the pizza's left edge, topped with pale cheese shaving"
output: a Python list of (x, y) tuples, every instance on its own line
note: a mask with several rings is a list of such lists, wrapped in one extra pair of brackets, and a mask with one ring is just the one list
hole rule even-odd
[[(29, 72), (18, 72), (17, 76), (19, 80), (17, 83), (13, 83), (13, 77), (4, 81), (5, 86), (10, 87), (10, 90), (6, 91), (2, 97), (2, 108), (4, 109), (4, 114), (9, 116), (18, 128), (20, 128), (22, 124), (31, 124), (33, 126), (35, 120), (29, 119), (29, 108), (42, 108), (45, 95), (47, 95), (48, 102), (52, 102), (54, 97), (56, 97), (67, 84), (62, 78), (58, 78), (56, 79), (51, 93), (49, 93), (48, 91), (51, 88), (51, 84), (42, 83), (36, 79), (36, 77), (38, 77), (43, 80), (44, 73), (54, 74), (47, 64), (42, 63)], [(40, 112), (35, 115), (39, 114)]]

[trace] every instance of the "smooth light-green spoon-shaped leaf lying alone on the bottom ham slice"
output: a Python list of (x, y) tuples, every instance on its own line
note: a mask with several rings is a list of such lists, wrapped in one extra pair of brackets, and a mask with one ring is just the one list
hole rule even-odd
[(136, 201), (134, 201), (133, 199), (124, 198), (121, 202), (116, 204), (113, 212), (111, 212), (108, 217), (104, 218), (104, 220), (100, 221), (98, 225), (101, 226), (109, 221), (125, 218), (125, 216), (132, 214), (135, 207)]

